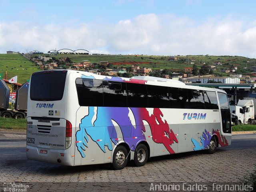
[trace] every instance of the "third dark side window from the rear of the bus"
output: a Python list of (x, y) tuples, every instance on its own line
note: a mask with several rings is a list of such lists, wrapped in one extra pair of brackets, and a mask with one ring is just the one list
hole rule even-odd
[(128, 107), (148, 107), (145, 84), (127, 83), (126, 87)]

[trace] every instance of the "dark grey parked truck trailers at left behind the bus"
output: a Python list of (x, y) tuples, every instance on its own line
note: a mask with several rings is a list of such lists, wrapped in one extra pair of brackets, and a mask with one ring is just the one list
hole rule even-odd
[(15, 108), (9, 109), (10, 89), (0, 80), (0, 116), (3, 118), (26, 118), (29, 82), (16, 91)]

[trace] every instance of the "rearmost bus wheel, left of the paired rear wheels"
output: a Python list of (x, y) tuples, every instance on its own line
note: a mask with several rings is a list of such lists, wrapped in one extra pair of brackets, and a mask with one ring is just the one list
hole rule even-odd
[(121, 170), (125, 168), (128, 162), (128, 152), (122, 145), (118, 145), (113, 153), (113, 162), (111, 164), (112, 169)]

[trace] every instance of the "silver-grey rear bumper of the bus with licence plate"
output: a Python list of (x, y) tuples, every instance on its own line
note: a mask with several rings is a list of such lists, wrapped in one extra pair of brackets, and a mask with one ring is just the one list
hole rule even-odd
[(30, 160), (74, 166), (74, 157), (71, 157), (71, 148), (46, 149), (26, 146), (26, 156)]

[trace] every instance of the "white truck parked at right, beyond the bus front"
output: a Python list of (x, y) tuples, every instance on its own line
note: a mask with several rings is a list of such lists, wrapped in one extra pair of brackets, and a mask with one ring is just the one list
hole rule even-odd
[(239, 100), (236, 106), (230, 106), (230, 111), (238, 116), (238, 123), (256, 124), (253, 100)]

